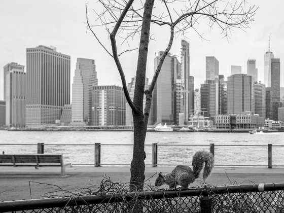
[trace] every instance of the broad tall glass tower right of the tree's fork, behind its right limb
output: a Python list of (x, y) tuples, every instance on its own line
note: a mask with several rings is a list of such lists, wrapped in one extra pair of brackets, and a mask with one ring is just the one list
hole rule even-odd
[[(154, 59), (155, 69), (162, 54)], [(183, 100), (181, 63), (168, 53), (153, 91), (153, 122), (179, 124)]]

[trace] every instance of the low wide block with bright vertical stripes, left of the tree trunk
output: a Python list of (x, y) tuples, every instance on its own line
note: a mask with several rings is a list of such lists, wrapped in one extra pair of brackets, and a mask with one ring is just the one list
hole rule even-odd
[(120, 86), (94, 86), (92, 91), (92, 125), (125, 125), (126, 98)]

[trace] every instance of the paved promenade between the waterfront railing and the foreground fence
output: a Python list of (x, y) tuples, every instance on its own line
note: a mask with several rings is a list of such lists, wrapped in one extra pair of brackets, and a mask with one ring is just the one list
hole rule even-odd
[[(146, 167), (147, 184), (154, 185), (157, 173), (171, 171), (173, 166)], [(113, 182), (128, 183), (129, 166), (73, 166), (66, 167), (66, 175), (60, 176), (60, 167), (0, 167), (0, 201), (42, 198), (45, 193), (55, 192), (58, 187), (70, 192), (84, 187), (99, 185), (103, 175)], [(201, 181), (202, 179), (199, 179)], [(214, 186), (250, 183), (284, 183), (284, 168), (215, 167), (206, 180)], [(56, 186), (53, 186), (56, 185)], [(200, 186), (195, 182), (191, 186)], [(161, 188), (168, 188), (163, 185)]]

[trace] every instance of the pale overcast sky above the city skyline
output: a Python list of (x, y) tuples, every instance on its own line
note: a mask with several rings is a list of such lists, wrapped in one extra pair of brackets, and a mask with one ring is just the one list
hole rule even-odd
[[(0, 2), (0, 99), (3, 99), (3, 67), (17, 62), (26, 69), (26, 48), (39, 45), (54, 46), (57, 52), (71, 56), (71, 83), (77, 58), (95, 60), (99, 85), (121, 85), (113, 59), (96, 42), (90, 31), (86, 31), (85, 2), (89, 8), (89, 21), (96, 18), (91, 9), (99, 6), (97, 0), (10, 0)], [(158, 2), (158, 1), (156, 1)], [(231, 39), (223, 38), (216, 27), (209, 29), (199, 26), (201, 33), (210, 41), (202, 41), (193, 30), (187, 38), (177, 37), (173, 42), (171, 54), (180, 55), (181, 40), (190, 43), (190, 75), (195, 78), (195, 88), (205, 80), (205, 56), (215, 56), (219, 60), (219, 74), (230, 75), (231, 65), (242, 66), (246, 73), (248, 58), (256, 59), (259, 80), (263, 82), (264, 54), (268, 51), (268, 33), (270, 33), (270, 51), (280, 58), (281, 86), (284, 87), (284, 1), (283, 0), (246, 0), (250, 5), (259, 7), (250, 29), (246, 32), (236, 29)], [(154, 28), (153, 28), (154, 29)], [(97, 30), (97, 35), (107, 47), (110, 47), (108, 34)], [(152, 80), (154, 57), (164, 50), (168, 41), (168, 30), (152, 31), (155, 41), (150, 42), (147, 77)], [(118, 44), (120, 44), (118, 42)], [(132, 48), (138, 44), (130, 42)], [(136, 46), (135, 46), (136, 45)], [(120, 48), (120, 47), (119, 47)], [(125, 47), (121, 48), (123, 51)], [(126, 53), (122, 57), (122, 66), (126, 81), (135, 75), (137, 54)]]

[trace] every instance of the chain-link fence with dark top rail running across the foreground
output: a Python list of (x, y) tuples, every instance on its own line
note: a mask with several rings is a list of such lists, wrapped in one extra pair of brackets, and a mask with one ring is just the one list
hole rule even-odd
[(5, 201), (0, 212), (284, 212), (284, 183)]

